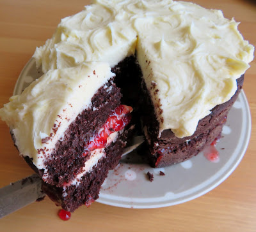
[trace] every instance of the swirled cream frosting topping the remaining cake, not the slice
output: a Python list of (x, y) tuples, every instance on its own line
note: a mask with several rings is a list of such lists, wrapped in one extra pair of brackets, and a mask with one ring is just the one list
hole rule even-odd
[(198, 121), (236, 92), (253, 46), (234, 19), (182, 1), (93, 1), (64, 18), (33, 57), (43, 71), (135, 54), (154, 103), (159, 136), (190, 136)]

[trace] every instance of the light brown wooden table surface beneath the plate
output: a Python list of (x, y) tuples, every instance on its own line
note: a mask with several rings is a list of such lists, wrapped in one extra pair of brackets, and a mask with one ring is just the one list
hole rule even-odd
[[(0, 106), (8, 102), (20, 71), (35, 48), (52, 36), (60, 19), (83, 9), (89, 1), (0, 1)], [(256, 3), (246, 0), (195, 0), (223, 10), (241, 22), (239, 30), (256, 45)], [(256, 231), (256, 62), (246, 72), (244, 91), (252, 112), (252, 137), (234, 173), (211, 192), (181, 205), (128, 209), (93, 203), (81, 207), (70, 221), (58, 218), (58, 207), (45, 198), (0, 220), (0, 231)], [(31, 175), (19, 157), (8, 127), (0, 121), (0, 187)]]

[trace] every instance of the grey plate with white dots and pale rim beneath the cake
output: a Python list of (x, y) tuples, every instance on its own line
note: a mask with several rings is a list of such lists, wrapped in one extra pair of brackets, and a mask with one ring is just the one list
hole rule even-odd
[[(14, 94), (20, 94), (42, 73), (30, 60), (20, 73)], [(228, 113), (221, 140), (216, 148), (220, 161), (208, 161), (202, 152), (198, 156), (167, 168), (150, 168), (133, 152), (109, 172), (100, 191), (100, 203), (125, 208), (167, 207), (198, 198), (223, 182), (235, 170), (244, 156), (251, 134), (250, 109), (243, 91)], [(154, 175), (150, 182), (147, 172)], [(159, 171), (165, 173), (159, 175)]]

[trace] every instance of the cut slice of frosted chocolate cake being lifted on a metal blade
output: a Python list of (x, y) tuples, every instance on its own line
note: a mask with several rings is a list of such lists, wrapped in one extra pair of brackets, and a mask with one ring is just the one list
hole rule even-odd
[(43, 190), (73, 212), (99, 197), (125, 147), (130, 106), (104, 62), (48, 71), (0, 109)]

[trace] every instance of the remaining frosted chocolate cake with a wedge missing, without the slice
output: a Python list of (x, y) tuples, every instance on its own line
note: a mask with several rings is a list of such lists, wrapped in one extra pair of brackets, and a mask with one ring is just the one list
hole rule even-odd
[(63, 18), (33, 57), (44, 72), (108, 62), (135, 122), (142, 116), (152, 166), (166, 166), (220, 135), (253, 59), (237, 25), (220, 10), (182, 1), (97, 0)]

